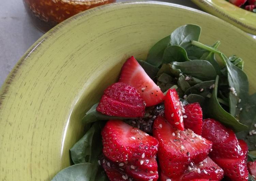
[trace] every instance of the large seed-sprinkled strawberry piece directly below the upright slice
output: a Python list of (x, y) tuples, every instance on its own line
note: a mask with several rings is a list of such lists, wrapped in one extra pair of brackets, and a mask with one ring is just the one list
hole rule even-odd
[(182, 175), (190, 162), (204, 160), (211, 149), (210, 141), (192, 130), (177, 130), (162, 116), (154, 121), (153, 136), (159, 141), (157, 155), (166, 179)]

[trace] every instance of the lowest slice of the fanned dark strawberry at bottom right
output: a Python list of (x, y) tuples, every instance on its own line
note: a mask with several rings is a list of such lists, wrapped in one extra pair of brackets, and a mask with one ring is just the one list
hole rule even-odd
[(244, 181), (248, 179), (248, 170), (244, 158), (212, 158), (225, 173), (225, 176), (232, 181)]

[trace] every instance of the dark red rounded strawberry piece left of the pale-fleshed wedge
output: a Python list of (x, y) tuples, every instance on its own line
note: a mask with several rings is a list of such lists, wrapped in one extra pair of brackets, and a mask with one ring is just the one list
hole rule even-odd
[(145, 102), (136, 88), (117, 82), (104, 91), (97, 111), (109, 116), (143, 117)]

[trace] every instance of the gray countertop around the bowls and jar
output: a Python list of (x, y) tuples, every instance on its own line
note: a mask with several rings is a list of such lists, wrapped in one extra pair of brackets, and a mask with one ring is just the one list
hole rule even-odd
[[(3, 1), (3, 0), (2, 0)], [(117, 2), (126, 0), (117, 0)], [(199, 9), (190, 0), (162, 0)], [(41, 36), (26, 13), (22, 0), (6, 0), (0, 6), (0, 87), (9, 72)]]

